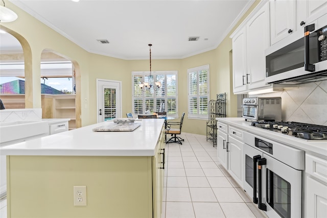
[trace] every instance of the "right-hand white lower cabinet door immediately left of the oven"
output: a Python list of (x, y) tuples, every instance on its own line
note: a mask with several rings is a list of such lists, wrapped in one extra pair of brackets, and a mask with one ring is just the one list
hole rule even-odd
[(243, 143), (228, 137), (228, 172), (243, 187)]

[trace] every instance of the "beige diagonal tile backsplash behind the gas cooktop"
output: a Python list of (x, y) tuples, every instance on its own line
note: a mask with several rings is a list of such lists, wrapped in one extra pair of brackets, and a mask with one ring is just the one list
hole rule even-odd
[(256, 96), (281, 96), (284, 121), (327, 126), (327, 80)]

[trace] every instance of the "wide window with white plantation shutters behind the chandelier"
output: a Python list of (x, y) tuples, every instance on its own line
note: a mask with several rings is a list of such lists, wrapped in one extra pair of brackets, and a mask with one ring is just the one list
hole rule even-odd
[[(142, 91), (138, 84), (161, 82), (158, 91), (153, 88)], [(177, 71), (132, 72), (133, 114), (166, 111), (169, 116), (178, 116), (177, 110)]]

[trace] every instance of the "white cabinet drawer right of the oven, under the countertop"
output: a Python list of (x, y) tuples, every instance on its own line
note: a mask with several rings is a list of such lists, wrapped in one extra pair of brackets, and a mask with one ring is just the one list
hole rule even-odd
[(321, 181), (327, 181), (327, 160), (306, 154), (306, 173)]

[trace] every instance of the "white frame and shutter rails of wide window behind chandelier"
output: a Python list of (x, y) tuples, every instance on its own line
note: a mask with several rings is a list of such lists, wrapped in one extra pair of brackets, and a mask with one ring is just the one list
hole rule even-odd
[[(156, 96), (155, 94), (153, 94), (152, 96), (147, 96), (146, 92), (142, 93), (142, 97), (139, 96), (134, 96), (134, 77), (135, 76), (139, 76), (142, 77), (142, 82), (145, 81), (145, 78), (147, 76), (150, 75), (150, 71), (132, 71), (132, 114), (133, 116), (137, 116), (138, 114), (145, 114), (146, 112), (146, 102), (147, 100), (153, 100), (153, 110), (154, 112), (157, 111), (156, 109), (156, 102), (157, 100), (164, 100), (165, 101), (165, 110), (166, 112), (168, 112), (168, 100), (169, 99), (175, 99), (176, 100), (176, 107), (175, 107), (175, 111), (176, 113), (167, 113), (167, 116), (171, 116), (171, 117), (178, 117), (178, 71), (177, 70), (165, 70), (165, 71), (151, 71), (151, 75), (153, 76), (153, 80), (156, 81), (156, 75), (165, 75), (165, 95), (164, 96)], [(176, 81), (176, 90), (175, 93), (176, 95), (172, 96), (172, 95), (168, 95), (167, 91), (167, 75), (175, 75), (175, 81)], [(137, 87), (139, 88), (139, 87)], [(142, 113), (137, 113), (135, 112), (135, 100), (141, 100), (142, 101)]]

